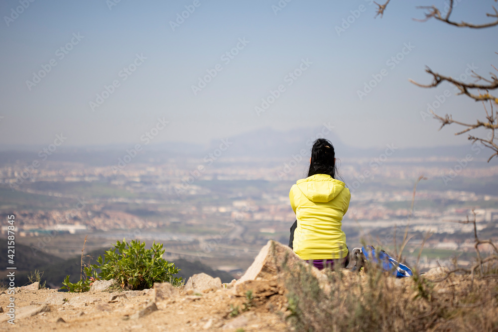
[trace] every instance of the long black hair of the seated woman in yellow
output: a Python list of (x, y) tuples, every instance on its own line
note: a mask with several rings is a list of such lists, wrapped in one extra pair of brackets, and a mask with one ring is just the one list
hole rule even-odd
[(315, 140), (311, 148), (308, 177), (315, 174), (328, 174), (335, 179), (337, 174), (335, 156), (334, 146), (329, 140), (325, 138)]

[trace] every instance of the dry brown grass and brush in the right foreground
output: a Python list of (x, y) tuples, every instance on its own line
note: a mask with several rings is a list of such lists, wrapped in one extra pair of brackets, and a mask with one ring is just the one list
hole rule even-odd
[[(376, 266), (328, 271), (327, 287), (310, 269), (289, 269), (289, 323), (296, 331), (498, 331), (497, 246), (479, 239), (475, 218), (457, 222), (474, 224), (478, 258), (467, 268), (455, 261), (402, 279)], [(486, 257), (482, 244), (493, 248)]]

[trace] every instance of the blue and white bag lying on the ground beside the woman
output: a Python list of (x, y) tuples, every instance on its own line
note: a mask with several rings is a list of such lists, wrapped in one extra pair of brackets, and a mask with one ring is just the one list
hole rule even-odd
[(411, 269), (405, 264), (399, 263), (384, 250), (377, 250), (372, 245), (353, 249), (353, 258), (356, 261), (353, 270), (365, 267), (366, 262), (377, 264), (382, 270), (392, 273), (397, 278), (410, 277), (413, 275)]

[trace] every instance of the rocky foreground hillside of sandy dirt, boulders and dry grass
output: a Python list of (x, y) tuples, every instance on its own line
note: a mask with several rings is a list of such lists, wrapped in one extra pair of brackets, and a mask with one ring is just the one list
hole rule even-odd
[[(485, 260), (496, 261), (491, 255)], [(497, 331), (496, 266), (470, 275), (435, 268), (397, 279), (374, 266), (358, 273), (322, 270), (274, 241), (241, 279), (223, 284), (206, 274), (185, 286), (142, 291), (58, 293), (37, 284), (16, 289), (14, 331)], [(481, 269), (479, 269), (481, 270)], [(110, 282), (112, 283), (112, 281)], [(0, 290), (4, 311), (9, 300)]]

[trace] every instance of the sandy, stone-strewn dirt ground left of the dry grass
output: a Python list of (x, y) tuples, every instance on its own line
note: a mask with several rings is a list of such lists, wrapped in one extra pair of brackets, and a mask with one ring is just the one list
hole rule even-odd
[[(19, 290), (15, 294), (15, 325), (6, 322), (9, 297), (0, 295), (0, 330), (4, 331), (285, 331), (285, 298), (280, 294), (247, 299), (222, 289), (203, 295), (181, 294), (155, 303), (152, 290), (62, 293), (57, 290)], [(140, 315), (145, 308), (157, 310)], [(240, 314), (230, 316), (231, 306)], [(144, 310), (145, 309), (145, 310)], [(32, 310), (31, 313), (28, 311)], [(33, 312), (42, 310), (30, 316)], [(135, 316), (133, 316), (135, 315)], [(28, 316), (28, 317), (26, 317)], [(241, 331), (241, 330), (240, 330)]]

